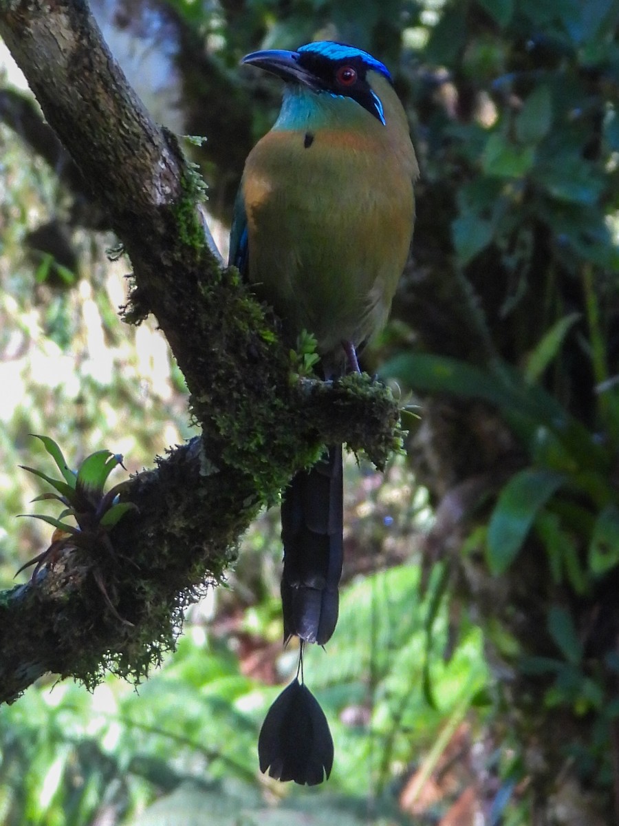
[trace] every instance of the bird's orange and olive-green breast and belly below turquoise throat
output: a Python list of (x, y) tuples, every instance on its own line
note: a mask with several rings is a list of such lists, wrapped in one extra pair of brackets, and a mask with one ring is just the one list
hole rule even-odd
[[(377, 137), (378, 135), (378, 137)], [(379, 140), (382, 139), (382, 140)], [(248, 157), (249, 278), (322, 354), (384, 323), (409, 253), (413, 183), (385, 131), (271, 131)]]

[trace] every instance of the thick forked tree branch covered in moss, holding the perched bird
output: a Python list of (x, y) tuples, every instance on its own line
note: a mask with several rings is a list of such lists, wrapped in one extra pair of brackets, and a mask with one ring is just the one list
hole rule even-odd
[(0, 700), (13, 700), (46, 671), (87, 685), (106, 667), (145, 676), (173, 646), (182, 610), (220, 581), (239, 535), (295, 470), (338, 441), (384, 464), (398, 406), (367, 377), (291, 382), (270, 311), (210, 240), (200, 182), (83, 0), (0, 0), (0, 34), (130, 255), (125, 320), (157, 317), (202, 427), (132, 479), (124, 498), (139, 512), (111, 534), (112, 553), (73, 548), (2, 595)]

